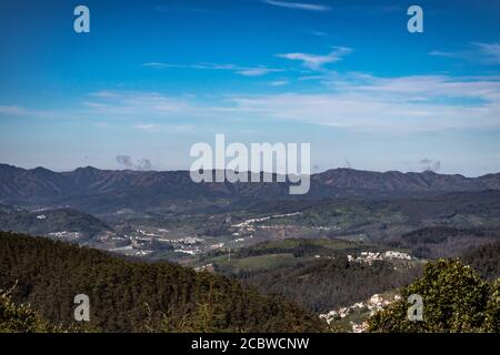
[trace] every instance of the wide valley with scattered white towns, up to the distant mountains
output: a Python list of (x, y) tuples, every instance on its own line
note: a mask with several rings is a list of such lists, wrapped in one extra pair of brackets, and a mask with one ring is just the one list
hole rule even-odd
[[(40, 171), (32, 173), (39, 175)], [(244, 187), (218, 183), (201, 186), (182, 202), (178, 196), (158, 202), (157, 196), (142, 195), (143, 187), (136, 182), (133, 187), (126, 187), (129, 175), (149, 179), (152, 173), (84, 169), (72, 173), (79, 175), (79, 194), (71, 202), (67, 200), (67, 204), (54, 205), (41, 202), (47, 196), (38, 191), (40, 176), (32, 181), (39, 187), (30, 197), (12, 199), (13, 190), (6, 192), (6, 186), (19, 183), (12, 179), (0, 190), (0, 231), (40, 235), (132, 261), (169, 262), (198, 273), (222, 275), (263, 295), (300, 304), (332, 328), (344, 332), (366, 329), (366, 320), (389, 304), (383, 300), (393, 300), (398, 290), (421, 275), (429, 261), (469, 257), (480, 267), (483, 256), (478, 261), (477, 255), (481, 247), (500, 241), (500, 191), (477, 190), (472, 182), (478, 180), (464, 183), (457, 176), (410, 174), (419, 183), (431, 179), (424, 192), (416, 192), (414, 184), (394, 189), (393, 173), (373, 173), (369, 178), (367, 172), (337, 173), (348, 174), (348, 180), (357, 181), (356, 186), (363, 189), (352, 190), (346, 180), (346, 186), (332, 194), (334, 180), (329, 180), (329, 171), (324, 173), (329, 179), (323, 178), (321, 184), (320, 175), (314, 175), (311, 195), (302, 197), (282, 195), (279, 183)], [(61, 184), (58, 179), (67, 181), (68, 175), (43, 171), (42, 185), (53, 187)], [(94, 181), (96, 176), (101, 178)], [(109, 176), (121, 181), (121, 187), (109, 182)], [(6, 174), (2, 179), (6, 181)], [(443, 186), (442, 181), (450, 179), (450, 185)], [(490, 186), (494, 179), (488, 178)], [(433, 187), (436, 181), (441, 181), (439, 189)], [(457, 181), (463, 189), (450, 191)], [(180, 181), (176, 184), (182, 186)], [(316, 196), (320, 186), (321, 196)], [(132, 189), (122, 191), (121, 196), (132, 193), (146, 200), (141, 207), (113, 201), (113, 207), (108, 202), (102, 210), (101, 199), (108, 199), (114, 189)], [(256, 191), (249, 193), (247, 189)], [(261, 189), (266, 190), (263, 195)], [(12, 204), (13, 201), (19, 204)], [(89, 201), (92, 203), (87, 204)], [(487, 277), (498, 275), (493, 271)]]

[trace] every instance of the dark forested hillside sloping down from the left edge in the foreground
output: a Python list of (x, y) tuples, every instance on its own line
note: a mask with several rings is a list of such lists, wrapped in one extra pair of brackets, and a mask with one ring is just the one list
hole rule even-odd
[(92, 329), (104, 332), (319, 332), (308, 311), (236, 281), (169, 263), (142, 263), (41, 237), (0, 232), (0, 288), (17, 283), (52, 324), (73, 322), (73, 298), (90, 298)]

